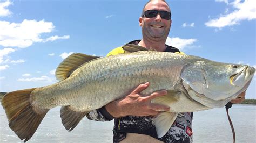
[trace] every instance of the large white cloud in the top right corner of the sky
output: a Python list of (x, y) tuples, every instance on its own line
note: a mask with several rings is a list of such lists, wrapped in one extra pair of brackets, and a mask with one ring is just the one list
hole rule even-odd
[(217, 27), (223, 28), (225, 26), (232, 26), (239, 24), (242, 20), (253, 20), (256, 19), (256, 1), (255, 0), (245, 0), (241, 2), (240, 0), (235, 0), (230, 3), (236, 10), (232, 13), (220, 16), (217, 19), (211, 19), (205, 23), (207, 27)]

